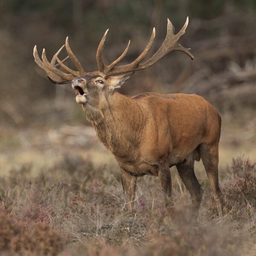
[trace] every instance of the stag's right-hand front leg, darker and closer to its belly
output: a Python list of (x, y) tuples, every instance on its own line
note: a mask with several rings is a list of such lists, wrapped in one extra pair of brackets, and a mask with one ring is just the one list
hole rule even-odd
[(172, 179), (171, 179), (171, 174), (170, 174), (169, 168), (161, 169), (158, 176), (160, 178), (161, 186), (163, 189), (165, 207), (173, 206)]

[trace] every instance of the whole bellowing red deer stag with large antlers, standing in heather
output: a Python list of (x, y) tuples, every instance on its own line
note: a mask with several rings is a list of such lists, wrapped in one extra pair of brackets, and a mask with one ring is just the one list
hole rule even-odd
[[(121, 167), (121, 180), (125, 204), (130, 211), (134, 206), (136, 180), (143, 175), (160, 178), (166, 206), (172, 202), (172, 182), (169, 168), (176, 166), (181, 180), (192, 198), (193, 215), (197, 217), (203, 189), (194, 172), (194, 162), (202, 159), (213, 196), (222, 215), (221, 191), (218, 185), (218, 143), (221, 133), (221, 117), (212, 105), (198, 95), (183, 93), (160, 95), (142, 93), (125, 96), (116, 91), (130, 76), (153, 66), (167, 53), (178, 50), (191, 59), (189, 49), (178, 44), (185, 33), (189, 19), (176, 35), (168, 19), (167, 35), (163, 44), (151, 58), (143, 61), (151, 49), (155, 29), (143, 52), (130, 64), (116, 66), (125, 57), (130, 41), (115, 61), (108, 66), (102, 61), (105, 32), (96, 58), (98, 71), (87, 73), (70, 49), (68, 38), (65, 46), (67, 58), (73, 61), (77, 71), (60, 61), (56, 52), (51, 62), (43, 49), (42, 60), (34, 48), (35, 62), (55, 84), (72, 81), (76, 102), (82, 105), (87, 119), (96, 130), (99, 140), (111, 151)], [(55, 62), (58, 64), (55, 64)], [(59, 67), (67, 73), (59, 70)]]

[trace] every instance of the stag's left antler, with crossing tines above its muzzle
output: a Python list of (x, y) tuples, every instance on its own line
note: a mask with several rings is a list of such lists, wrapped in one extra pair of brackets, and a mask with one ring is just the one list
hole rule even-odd
[[(64, 47), (66, 48), (68, 56), (61, 61), (58, 58), (58, 54), (61, 52), (61, 50)], [(36, 64), (38, 64), (38, 66), (45, 71), (49, 80), (55, 84), (66, 84), (72, 81), (73, 79), (75, 79), (76, 77), (86, 74), (80, 62), (78, 61), (78, 59), (76, 58), (72, 50), (70, 49), (68, 37), (66, 38), (66, 43), (58, 50), (58, 52), (55, 53), (55, 55), (53, 55), (51, 62), (47, 60), (45, 49), (43, 49), (43, 52), (42, 52), (42, 60), (40, 59), (36, 45), (34, 47), (33, 54), (34, 54)], [(75, 65), (78, 71), (72, 70), (64, 64), (64, 62), (68, 58), (71, 59), (71, 61), (73, 62), (73, 64)], [(56, 61), (58, 62), (58, 64), (55, 65)], [(64, 70), (66, 70), (69, 73), (62, 72), (61, 70), (58, 69), (59, 67), (64, 68)]]

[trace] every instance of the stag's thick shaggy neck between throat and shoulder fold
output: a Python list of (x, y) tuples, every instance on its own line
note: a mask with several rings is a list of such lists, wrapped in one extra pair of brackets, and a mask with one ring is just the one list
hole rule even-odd
[(87, 113), (87, 118), (109, 151), (117, 157), (129, 157), (140, 142), (145, 124), (144, 112), (135, 99), (114, 92), (97, 114)]

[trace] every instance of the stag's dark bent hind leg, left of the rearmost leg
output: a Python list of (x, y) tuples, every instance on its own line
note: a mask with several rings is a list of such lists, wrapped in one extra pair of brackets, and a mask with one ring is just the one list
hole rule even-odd
[(195, 160), (191, 157), (185, 163), (177, 164), (177, 171), (186, 188), (189, 190), (192, 200), (192, 212), (195, 218), (198, 216), (204, 190), (201, 188), (194, 172)]

